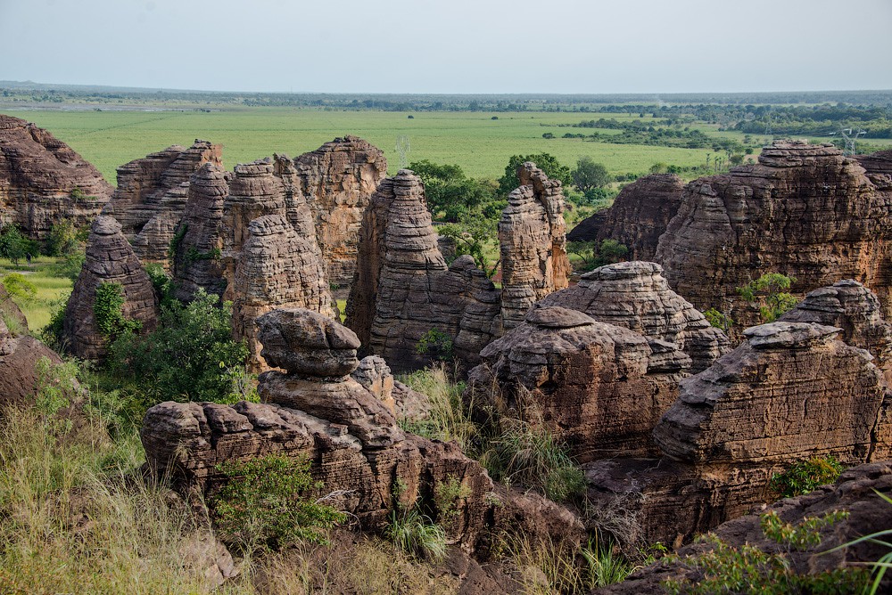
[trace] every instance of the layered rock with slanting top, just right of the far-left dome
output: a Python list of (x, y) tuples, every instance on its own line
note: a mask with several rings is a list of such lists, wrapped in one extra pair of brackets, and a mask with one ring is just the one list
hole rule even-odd
[[(118, 167), (118, 188), (103, 208), (103, 215), (116, 218), (130, 239), (158, 217), (138, 245), (140, 250), (147, 250), (145, 257), (153, 256), (163, 264), (186, 206), (188, 191), (182, 184), (188, 183), (205, 163), (221, 166), (220, 150), (219, 144), (196, 139), (188, 149), (173, 145)], [(164, 256), (158, 259), (161, 250), (165, 250)], [(144, 256), (142, 252), (137, 254)]]

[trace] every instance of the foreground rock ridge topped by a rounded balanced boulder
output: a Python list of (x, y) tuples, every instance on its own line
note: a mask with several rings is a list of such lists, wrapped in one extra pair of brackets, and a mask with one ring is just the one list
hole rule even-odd
[[(492, 526), (578, 536), (580, 525), (566, 509), (493, 486), (454, 443), (403, 432), (384, 403), (351, 378), (359, 341), (350, 330), (321, 314), (285, 309), (260, 318), (260, 340), (268, 363), (287, 370), (260, 376), (265, 403), (161, 403), (146, 413), (146, 460), (170, 471), (181, 488), (213, 485), (220, 462), (278, 452), (309, 457), (314, 477), (332, 492), (329, 503), (367, 529), (382, 529), (398, 501), (417, 502), (439, 518), (436, 486), (456, 481), (468, 495), (454, 502), (458, 515), (442, 522), (469, 549), (485, 547)], [(538, 508), (540, 517), (524, 519), (521, 507)]]

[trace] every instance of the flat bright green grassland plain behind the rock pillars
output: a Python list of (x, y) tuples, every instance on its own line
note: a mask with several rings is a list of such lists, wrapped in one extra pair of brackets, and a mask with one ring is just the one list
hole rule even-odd
[[(389, 169), (400, 167), (397, 139), (409, 138), (407, 161), (456, 163), (471, 177), (498, 178), (511, 155), (549, 152), (568, 166), (589, 155), (611, 174), (646, 173), (655, 163), (695, 166), (707, 149), (595, 143), (561, 136), (587, 118), (561, 112), (394, 112), (328, 111), (297, 108), (242, 108), (210, 113), (188, 111), (3, 110), (34, 122), (93, 163), (110, 183), (115, 169), (171, 144), (188, 146), (202, 138), (223, 145), (227, 168), (267, 157), (312, 151), (344, 134), (355, 134), (382, 149)], [(409, 115), (413, 118), (409, 118)], [(638, 119), (639, 114), (610, 114)], [(647, 119), (647, 118), (644, 118)], [(609, 131), (614, 134), (616, 131)]]

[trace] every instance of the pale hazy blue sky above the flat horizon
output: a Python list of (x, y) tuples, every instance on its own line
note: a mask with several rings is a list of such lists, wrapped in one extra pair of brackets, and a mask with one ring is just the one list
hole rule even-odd
[(892, 0), (0, 0), (0, 80), (255, 92), (892, 89)]

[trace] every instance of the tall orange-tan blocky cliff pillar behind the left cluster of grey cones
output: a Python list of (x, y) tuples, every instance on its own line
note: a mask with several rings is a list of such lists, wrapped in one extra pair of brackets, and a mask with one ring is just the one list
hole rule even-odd
[(356, 136), (345, 136), (294, 159), (294, 168), (315, 216), (326, 276), (348, 287), (356, 271), (362, 214), (387, 175), (384, 151)]

